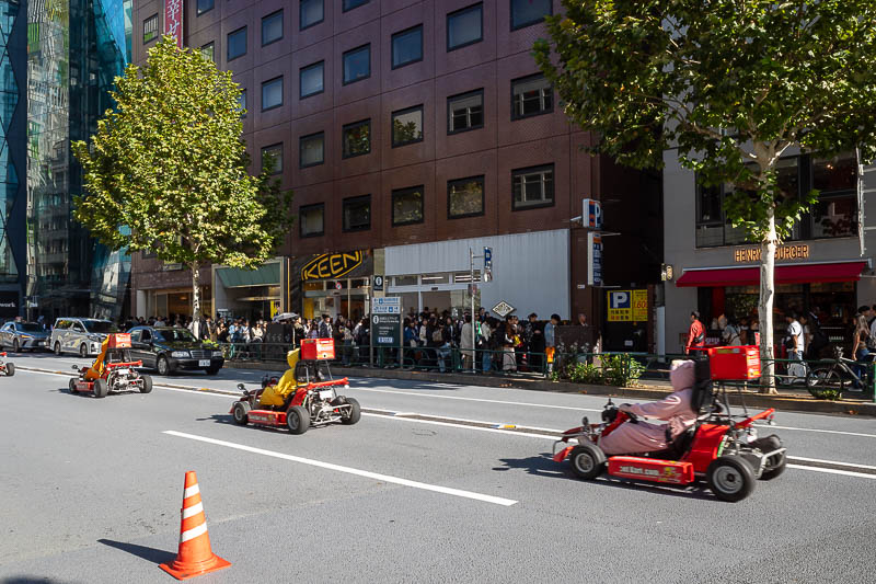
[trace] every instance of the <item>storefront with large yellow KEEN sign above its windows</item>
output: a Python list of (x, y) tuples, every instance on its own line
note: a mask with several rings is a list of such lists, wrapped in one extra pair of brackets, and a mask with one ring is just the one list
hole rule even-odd
[(289, 270), (289, 306), (306, 319), (359, 320), (367, 313), (373, 266), (371, 250), (297, 259)]

